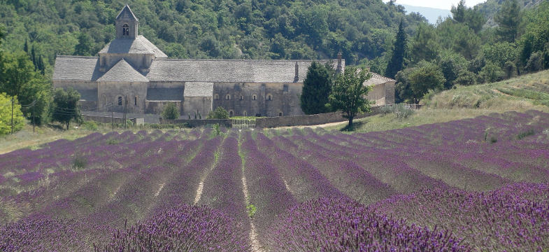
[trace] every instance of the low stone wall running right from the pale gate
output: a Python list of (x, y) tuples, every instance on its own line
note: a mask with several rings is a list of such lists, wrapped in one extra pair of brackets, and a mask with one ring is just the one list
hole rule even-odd
[[(366, 116), (373, 116), (380, 112), (380, 107), (372, 107), (371, 113), (364, 113), (355, 117), (365, 118)], [(300, 125), (322, 125), (326, 123), (343, 122), (347, 119), (343, 118), (341, 112), (334, 113), (322, 113), (317, 115), (307, 116), (280, 116), (271, 118), (257, 118), (255, 120), (255, 127), (257, 128), (269, 128), (269, 127), (292, 127)]]

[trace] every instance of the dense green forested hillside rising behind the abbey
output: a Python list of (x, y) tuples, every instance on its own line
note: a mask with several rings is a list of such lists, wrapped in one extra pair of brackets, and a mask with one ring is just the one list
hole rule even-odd
[(399, 20), (410, 31), (425, 22), (381, 0), (8, 0), (0, 3), (4, 48), (28, 41), (46, 64), (56, 54), (94, 55), (114, 38), (125, 3), (139, 32), (177, 58), (316, 59), (341, 50), (353, 64), (390, 50)]

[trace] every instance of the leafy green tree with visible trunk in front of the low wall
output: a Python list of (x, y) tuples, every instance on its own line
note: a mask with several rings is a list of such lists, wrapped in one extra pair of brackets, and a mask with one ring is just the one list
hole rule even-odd
[(345, 73), (338, 74), (329, 95), (329, 106), (334, 111), (343, 112), (343, 118), (349, 120), (348, 129), (352, 129), (352, 119), (358, 113), (368, 113), (371, 108), (371, 102), (366, 99), (370, 91), (369, 86), (364, 85), (364, 81), (371, 78), (371, 74), (366, 69), (356, 69), (348, 66)]

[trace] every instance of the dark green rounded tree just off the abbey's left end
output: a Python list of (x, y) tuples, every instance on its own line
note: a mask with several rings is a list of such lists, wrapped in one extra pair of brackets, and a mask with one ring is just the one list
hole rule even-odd
[(78, 100), (80, 100), (80, 94), (72, 87), (66, 91), (62, 88), (56, 89), (52, 103), (52, 120), (64, 123), (66, 130), (69, 130), (71, 120), (80, 120)]

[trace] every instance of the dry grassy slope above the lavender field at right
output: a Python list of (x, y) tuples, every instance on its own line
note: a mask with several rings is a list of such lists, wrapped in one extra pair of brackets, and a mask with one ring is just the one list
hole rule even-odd
[[(457, 87), (428, 96), (424, 109), (399, 120), (394, 114), (355, 120), (355, 132), (393, 130), (426, 123), (473, 118), (490, 113), (527, 111), (549, 112), (549, 70), (532, 73), (498, 83)], [(326, 127), (341, 130), (345, 123)]]

